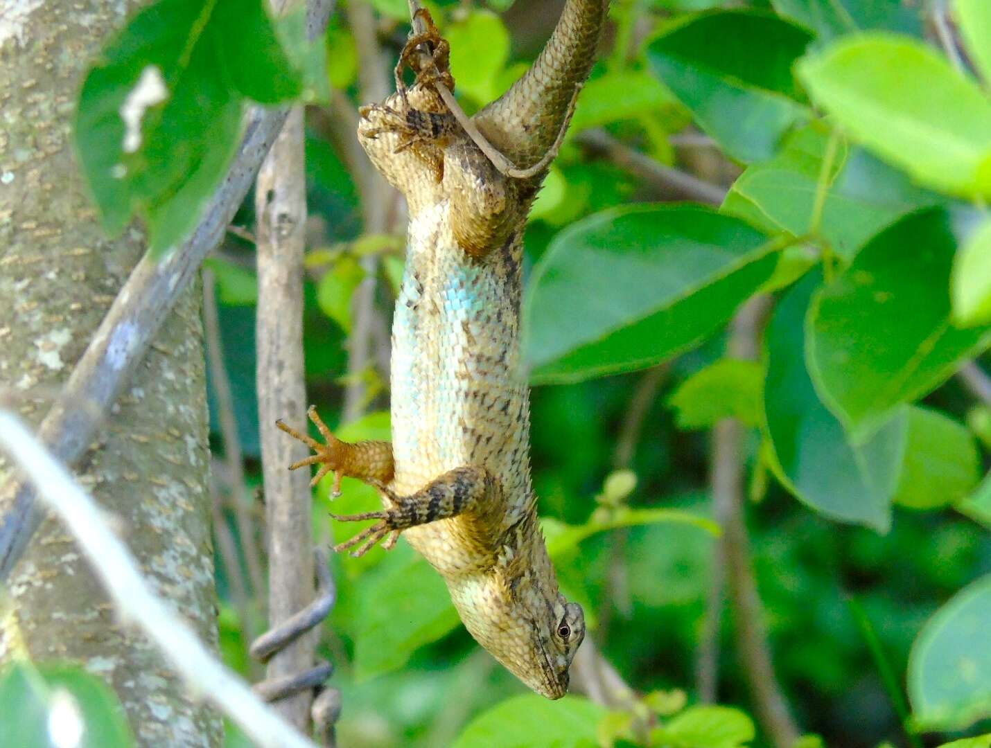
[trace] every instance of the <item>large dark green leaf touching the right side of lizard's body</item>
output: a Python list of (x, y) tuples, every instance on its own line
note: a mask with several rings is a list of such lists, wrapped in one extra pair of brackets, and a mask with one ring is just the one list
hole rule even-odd
[(528, 288), (531, 379), (630, 371), (690, 348), (770, 277), (773, 250), (744, 222), (701, 206), (628, 206), (573, 224)]

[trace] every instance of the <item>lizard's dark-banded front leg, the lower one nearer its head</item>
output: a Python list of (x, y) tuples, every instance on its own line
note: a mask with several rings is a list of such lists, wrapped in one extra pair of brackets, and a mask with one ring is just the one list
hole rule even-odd
[[(362, 545), (351, 554), (359, 557), (386, 535), (401, 532), (409, 527), (465, 514), (478, 515), (478, 520), (484, 524), (489, 514), (497, 517), (504, 513), (504, 501), (498, 481), (485, 468), (475, 466), (456, 468), (408, 496), (396, 494), (385, 483), (377, 483), (377, 487), (385, 494), (391, 505), (381, 511), (335, 517), (342, 522), (379, 520), (353, 538), (335, 546), (335, 551), (346, 551), (361, 543)], [(388, 542), (394, 542), (392, 537), (394, 536), (389, 537)]]

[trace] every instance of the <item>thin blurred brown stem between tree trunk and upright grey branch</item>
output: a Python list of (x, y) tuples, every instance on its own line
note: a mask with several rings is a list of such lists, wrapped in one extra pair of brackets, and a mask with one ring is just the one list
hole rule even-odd
[[(224, 462), (231, 477), (228, 488), (234, 498), (234, 518), (241, 535), (245, 561), (251, 586), (256, 594), (265, 589), (265, 575), (262, 571), (262, 553), (255, 541), (255, 527), (251, 521), (251, 507), (248, 505), (248, 483), (245, 481), (244, 458), (241, 453), (241, 437), (238, 433), (238, 419), (234, 412), (234, 395), (231, 393), (231, 380), (224, 365), (224, 349), (220, 340), (220, 318), (217, 310), (216, 279), (209, 269), (203, 270), (203, 331), (206, 339), (206, 356), (213, 374), (213, 391), (217, 396), (217, 409), (220, 413), (220, 433), (224, 440)], [(240, 575), (240, 569), (231, 572)], [(245, 621), (247, 625), (249, 621)], [(250, 627), (248, 629), (250, 631)], [(249, 637), (251, 634), (249, 633)]]

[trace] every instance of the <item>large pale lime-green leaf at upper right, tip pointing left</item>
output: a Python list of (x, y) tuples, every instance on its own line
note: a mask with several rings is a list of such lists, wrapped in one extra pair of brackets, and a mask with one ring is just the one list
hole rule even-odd
[(881, 158), (952, 194), (991, 196), (991, 100), (928, 46), (865, 34), (807, 57), (799, 73), (816, 103)]

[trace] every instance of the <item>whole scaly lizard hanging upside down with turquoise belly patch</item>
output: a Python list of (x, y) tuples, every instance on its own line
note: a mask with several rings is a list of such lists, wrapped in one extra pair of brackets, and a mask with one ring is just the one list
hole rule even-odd
[[(506, 156), (536, 162), (567, 126), (606, 19), (607, 0), (569, 0), (531, 70), (475, 121)], [(328, 444), (304, 464), (379, 486), (385, 509), (340, 549), (402, 532), (443, 576), (466, 628), (529, 688), (568, 689), (585, 636), (540, 533), (530, 483), (529, 392), (518, 373), (521, 235), (544, 174), (499, 173), (447, 111), (429, 75), (453, 84), (446, 44), (432, 31), (400, 64), (408, 91), (362, 111), (359, 139), (409, 205), (405, 274), (392, 322), (392, 448), (347, 445), (315, 418)], [(435, 65), (421, 64), (416, 45)], [(428, 68), (436, 67), (431, 70)], [(437, 77), (439, 71), (440, 77)], [(390, 480), (391, 479), (391, 480)]]

